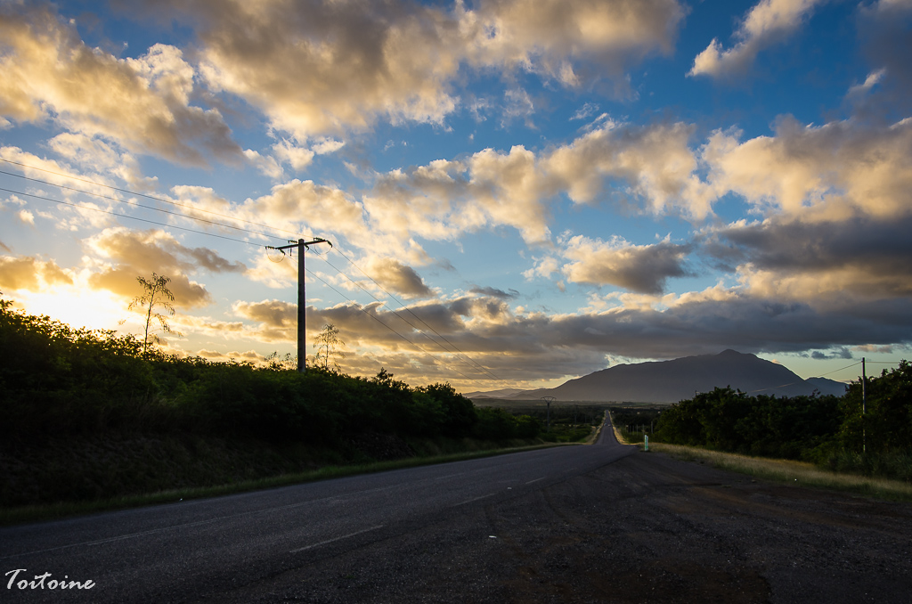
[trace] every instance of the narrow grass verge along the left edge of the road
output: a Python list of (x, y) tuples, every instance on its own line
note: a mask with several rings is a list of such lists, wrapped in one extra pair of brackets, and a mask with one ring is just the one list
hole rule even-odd
[(431, 465), (434, 463), (458, 462), (482, 457), (492, 457), (504, 453), (519, 453), (547, 447), (561, 446), (554, 443), (543, 443), (506, 449), (488, 449), (483, 451), (470, 451), (461, 453), (445, 453), (421, 457), (409, 457), (388, 462), (360, 463), (352, 465), (329, 465), (309, 472), (294, 474), (281, 474), (255, 480), (244, 480), (231, 484), (215, 486), (188, 487), (171, 489), (151, 493), (148, 495), (125, 495), (92, 501), (63, 502), (45, 505), (21, 505), (16, 507), (0, 508), (0, 526), (10, 526), (23, 523), (40, 522), (66, 518), (74, 515), (85, 515), (97, 512), (140, 507), (142, 505), (173, 504), (185, 499), (202, 499), (220, 495), (259, 491), (277, 488), (290, 484), (302, 484), (332, 478), (342, 478), (357, 474), (370, 474), (386, 472), (403, 468)]

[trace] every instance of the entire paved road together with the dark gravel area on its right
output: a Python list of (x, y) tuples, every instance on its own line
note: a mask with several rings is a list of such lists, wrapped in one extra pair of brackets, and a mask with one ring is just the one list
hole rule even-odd
[[(907, 602), (912, 506), (618, 445), (0, 531), (4, 602)], [(26, 575), (27, 572), (27, 575)]]

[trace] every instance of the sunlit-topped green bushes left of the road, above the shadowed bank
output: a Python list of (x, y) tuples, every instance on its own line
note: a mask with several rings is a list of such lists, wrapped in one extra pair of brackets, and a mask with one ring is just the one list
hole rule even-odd
[(449, 384), (410, 388), (273, 362), (179, 358), (113, 331), (76, 329), (0, 300), (0, 437), (196, 432), (331, 445), (362, 432), (533, 438), (537, 422), (477, 410)]

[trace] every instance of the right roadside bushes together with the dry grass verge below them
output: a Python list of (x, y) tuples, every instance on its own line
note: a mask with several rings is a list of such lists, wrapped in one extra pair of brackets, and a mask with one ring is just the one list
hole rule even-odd
[[(864, 389), (864, 395), (863, 395)], [(863, 405), (864, 396), (864, 405)], [(665, 408), (612, 409), (650, 451), (787, 483), (912, 500), (912, 365), (852, 382), (843, 397), (717, 388)]]

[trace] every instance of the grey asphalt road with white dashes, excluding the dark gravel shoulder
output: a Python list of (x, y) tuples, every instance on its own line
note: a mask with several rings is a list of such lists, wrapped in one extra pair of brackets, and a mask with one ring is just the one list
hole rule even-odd
[[(222, 599), (225, 592), (268, 586), (317, 560), (592, 472), (634, 451), (618, 445), (610, 430), (602, 436), (590, 446), (5, 528), (0, 601)], [(46, 573), (44, 587), (19, 588)], [(49, 587), (61, 579), (93, 587)]]

